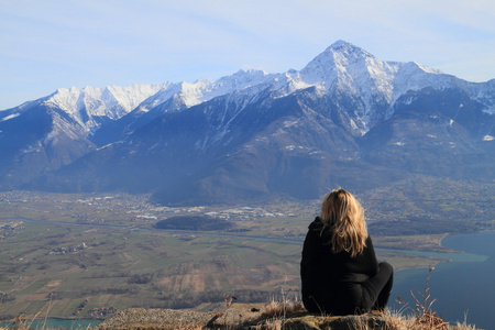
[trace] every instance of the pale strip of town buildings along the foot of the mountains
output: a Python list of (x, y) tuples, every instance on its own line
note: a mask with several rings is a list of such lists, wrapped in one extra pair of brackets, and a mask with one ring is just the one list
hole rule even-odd
[[(201, 213), (222, 220), (243, 221), (254, 218), (287, 218), (310, 215), (317, 204), (293, 201), (264, 206), (196, 206), (164, 207), (153, 205), (150, 195), (46, 194), (37, 191), (2, 191), (0, 205), (12, 218), (32, 211), (33, 220), (64, 221), (94, 224), (146, 226), (174, 216)], [(36, 207), (37, 206), (37, 207)], [(9, 212), (7, 212), (9, 213)], [(50, 216), (48, 216), (50, 215)], [(57, 216), (55, 216), (57, 215)], [(54, 217), (55, 216), (55, 217)], [(2, 218), (6, 217), (6, 212)]]

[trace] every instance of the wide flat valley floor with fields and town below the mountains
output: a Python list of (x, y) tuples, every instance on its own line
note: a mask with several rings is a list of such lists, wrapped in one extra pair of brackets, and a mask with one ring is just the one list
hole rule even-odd
[[(493, 184), (416, 180), (358, 194), (378, 258), (396, 270), (439, 262), (405, 250), (444, 252), (446, 233), (494, 228)], [(298, 297), (301, 244), (319, 200), (163, 207), (148, 197), (0, 193), (0, 317), (103, 318), (128, 307), (211, 310), (224, 295)], [(231, 227), (154, 228), (205, 215)]]

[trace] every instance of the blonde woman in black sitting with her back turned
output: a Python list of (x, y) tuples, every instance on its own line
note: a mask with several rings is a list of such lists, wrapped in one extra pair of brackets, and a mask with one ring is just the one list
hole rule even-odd
[(376, 261), (360, 202), (343, 189), (326, 195), (302, 248), (306, 309), (331, 315), (383, 311), (393, 273), (388, 263)]

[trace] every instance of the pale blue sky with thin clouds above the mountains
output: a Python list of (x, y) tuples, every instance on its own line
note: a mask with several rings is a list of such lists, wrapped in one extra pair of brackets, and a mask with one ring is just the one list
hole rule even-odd
[(0, 110), (58, 88), (301, 69), (339, 40), (495, 78), (493, 0), (0, 0)]

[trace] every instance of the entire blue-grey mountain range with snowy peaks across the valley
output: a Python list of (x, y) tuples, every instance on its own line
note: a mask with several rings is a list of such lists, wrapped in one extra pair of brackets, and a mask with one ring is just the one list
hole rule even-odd
[(163, 205), (314, 199), (405, 177), (495, 179), (495, 79), (338, 41), (301, 70), (58, 89), (0, 111), (0, 188)]

